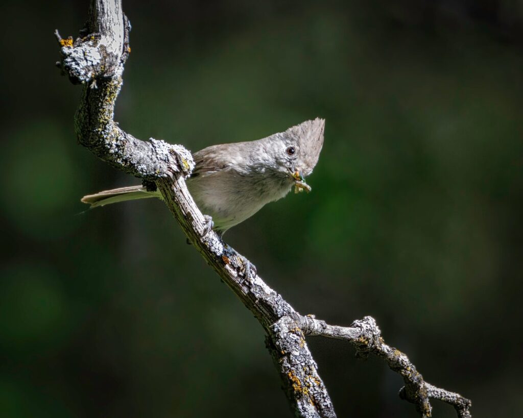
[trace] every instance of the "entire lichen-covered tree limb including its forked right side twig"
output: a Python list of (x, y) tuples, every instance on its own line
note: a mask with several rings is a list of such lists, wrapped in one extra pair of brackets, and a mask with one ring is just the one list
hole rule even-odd
[(129, 31), (121, 0), (92, 0), (80, 37), (63, 39), (55, 32), (62, 47), (57, 64), (74, 84), (84, 85), (75, 116), (78, 141), (112, 166), (141, 178), (147, 187), (160, 190), (194, 247), (264, 327), (267, 348), (295, 414), (336, 416), (305, 341), (305, 335), (322, 335), (351, 342), (360, 355), (374, 353), (383, 358), (403, 376), (400, 396), (415, 403), (422, 416), (430, 416), (429, 399), (439, 399), (452, 404), (460, 417), (470, 417), (470, 401), (426, 383), (405, 354), (383, 342), (371, 317), (355, 321), (350, 328), (330, 326), (299, 315), (258, 275), (249, 280), (243, 277), (242, 258), (214, 231), (206, 233), (206, 220), (187, 190), (185, 179), (194, 168), (191, 153), (181, 145), (153, 138), (141, 141), (121, 130), (113, 119), (130, 52)]

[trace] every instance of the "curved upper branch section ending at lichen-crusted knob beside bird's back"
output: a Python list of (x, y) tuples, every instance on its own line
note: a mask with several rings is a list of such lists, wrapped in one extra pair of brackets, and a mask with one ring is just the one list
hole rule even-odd
[[(57, 63), (73, 84), (83, 84), (75, 116), (78, 142), (97, 157), (127, 173), (154, 180), (180, 167), (192, 169), (190, 153), (164, 141), (140, 141), (124, 132), (114, 120), (116, 98), (122, 86), (123, 66), (130, 52), (131, 26), (123, 15), (121, 2), (96, 0), (89, 10), (87, 26), (73, 41), (56, 37), (62, 60)], [(172, 164), (181, 155), (185, 164)]]

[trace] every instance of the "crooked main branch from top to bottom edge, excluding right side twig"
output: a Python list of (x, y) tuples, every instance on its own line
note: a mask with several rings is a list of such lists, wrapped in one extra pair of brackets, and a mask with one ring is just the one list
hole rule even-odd
[[(112, 34), (113, 29), (118, 33)], [(123, 65), (130, 51), (129, 29), (119, 0), (96, 0), (80, 37), (74, 41), (63, 39), (56, 32), (62, 54), (59, 66), (73, 83), (84, 86), (75, 117), (79, 143), (112, 166), (142, 178), (147, 185), (154, 184), (195, 248), (258, 318), (267, 331), (268, 343), (287, 347), (271, 352), (285, 386), (292, 389), (287, 394), (298, 416), (335, 416), (304, 340), (295, 341), (293, 334), (283, 329), (273, 331), (278, 320), (298, 314), (259, 276), (245, 280), (242, 258), (213, 231), (206, 234), (206, 221), (185, 185), (194, 167), (191, 154), (182, 146), (164, 141), (140, 141), (114, 121)], [(291, 370), (297, 359), (306, 367)]]

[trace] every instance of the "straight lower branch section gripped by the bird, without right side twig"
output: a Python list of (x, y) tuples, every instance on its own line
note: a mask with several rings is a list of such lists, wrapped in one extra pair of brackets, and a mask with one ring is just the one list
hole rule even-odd
[(334, 417), (334, 407), (301, 332), (300, 316), (281, 295), (256, 275), (248, 280), (234, 250), (211, 231), (185, 185), (183, 176), (156, 181), (165, 203), (187, 237), (267, 332), (266, 344), (282, 377), (291, 407), (300, 417)]

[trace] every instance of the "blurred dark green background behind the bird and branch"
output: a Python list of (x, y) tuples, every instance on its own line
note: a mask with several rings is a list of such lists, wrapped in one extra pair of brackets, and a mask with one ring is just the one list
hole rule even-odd
[[(0, 415), (285, 417), (264, 331), (160, 201), (76, 144), (54, 67), (87, 2), (2, 4)], [(226, 234), (302, 313), (374, 316), (475, 417), (523, 407), (523, 5), (127, 1), (116, 119), (197, 150), (326, 119), (311, 194)], [(340, 417), (415, 417), (376, 358), (309, 338)], [(434, 403), (434, 416), (452, 417)]]

